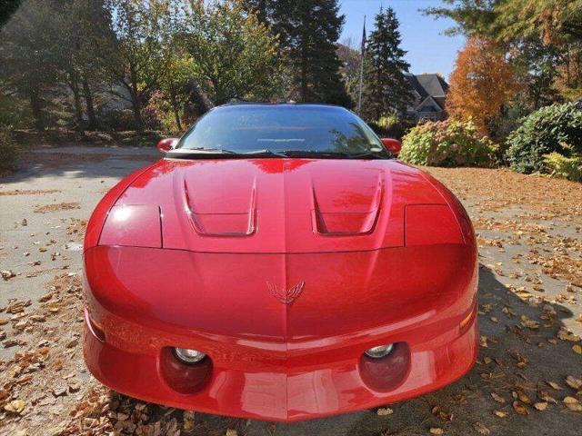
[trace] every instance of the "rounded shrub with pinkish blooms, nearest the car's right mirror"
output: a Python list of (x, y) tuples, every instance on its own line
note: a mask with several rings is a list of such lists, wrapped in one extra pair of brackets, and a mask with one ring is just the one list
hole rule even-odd
[(416, 165), (488, 166), (494, 144), (477, 133), (472, 121), (426, 122), (402, 139), (400, 159)]

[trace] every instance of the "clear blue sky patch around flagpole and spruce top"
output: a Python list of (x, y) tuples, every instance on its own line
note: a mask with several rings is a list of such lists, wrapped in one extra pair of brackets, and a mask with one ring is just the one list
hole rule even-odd
[(374, 15), (380, 5), (391, 6), (400, 22), (402, 48), (408, 53), (406, 61), (410, 72), (440, 73), (445, 77), (453, 70), (457, 51), (465, 43), (463, 36), (445, 36), (443, 31), (455, 25), (449, 19), (422, 15), (418, 9), (441, 5), (440, 0), (339, 0), (346, 24), (340, 42), (351, 37), (352, 45), (360, 46), (362, 25), (366, 15), (366, 33), (369, 35), (374, 25)]

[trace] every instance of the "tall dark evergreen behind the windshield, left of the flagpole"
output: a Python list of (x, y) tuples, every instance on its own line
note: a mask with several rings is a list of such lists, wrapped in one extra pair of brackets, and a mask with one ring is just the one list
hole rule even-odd
[(288, 98), (351, 106), (336, 54), (345, 21), (337, 0), (243, 0), (243, 5), (279, 37)]

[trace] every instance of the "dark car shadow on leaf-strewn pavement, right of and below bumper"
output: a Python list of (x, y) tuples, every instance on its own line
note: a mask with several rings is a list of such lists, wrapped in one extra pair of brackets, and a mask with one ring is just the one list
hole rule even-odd
[[(386, 405), (380, 412), (356, 411), (288, 424), (196, 413), (195, 424), (185, 428), (184, 412), (169, 413), (184, 429), (180, 434), (196, 436), (426, 435), (431, 429), (447, 435), (541, 434), (542, 429), (547, 435), (579, 434), (580, 412), (568, 410), (563, 399), (576, 394), (564, 381), (570, 374), (580, 377), (580, 356), (572, 351), (573, 342), (557, 339), (561, 320), (572, 312), (558, 304), (528, 303), (480, 266), (477, 364), (444, 389)], [(139, 402), (124, 396), (115, 401), (124, 412)], [(168, 416), (166, 408), (151, 407), (152, 419)]]

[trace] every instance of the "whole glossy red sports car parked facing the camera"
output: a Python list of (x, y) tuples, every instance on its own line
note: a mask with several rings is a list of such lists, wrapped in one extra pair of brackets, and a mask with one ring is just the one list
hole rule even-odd
[(85, 236), (85, 361), (168, 406), (272, 421), (433, 391), (477, 357), (467, 213), (355, 114), (232, 104), (158, 144)]

